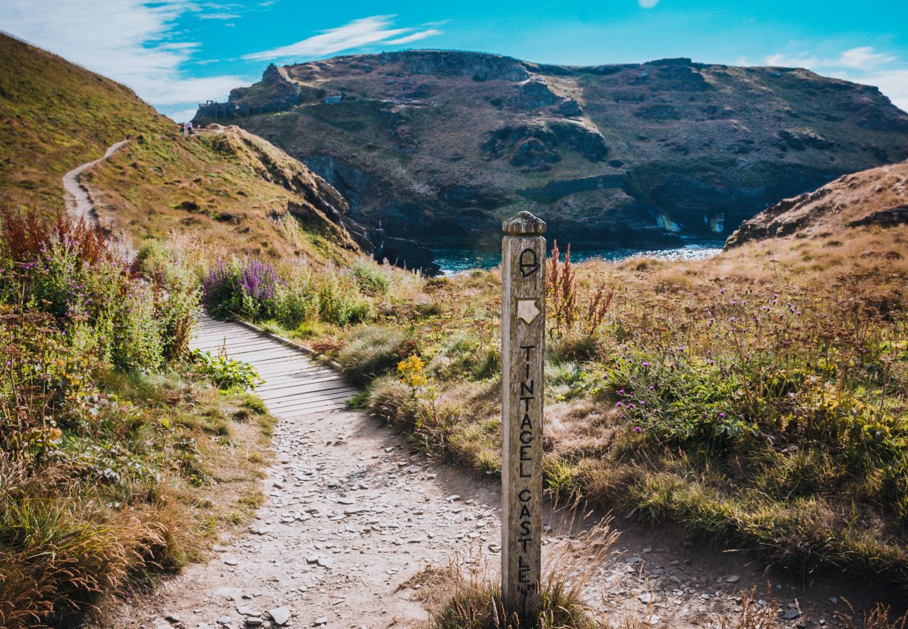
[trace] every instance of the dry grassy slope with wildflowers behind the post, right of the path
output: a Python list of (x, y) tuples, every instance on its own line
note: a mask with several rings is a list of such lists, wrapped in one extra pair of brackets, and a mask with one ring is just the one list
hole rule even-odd
[[(903, 183), (877, 185), (877, 200), (903, 203)], [(707, 261), (579, 265), (582, 310), (598, 285), (615, 295), (596, 334), (549, 342), (548, 486), (796, 570), (908, 587), (906, 244), (906, 225), (838, 225)], [(321, 344), (360, 378), (419, 354), (423, 401), (380, 378), (370, 411), (487, 473), (500, 466), (499, 281), (392, 290), (380, 327)]]

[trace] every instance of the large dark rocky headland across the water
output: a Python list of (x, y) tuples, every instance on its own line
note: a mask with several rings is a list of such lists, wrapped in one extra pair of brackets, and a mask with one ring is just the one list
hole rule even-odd
[(523, 209), (574, 245), (725, 237), (780, 199), (908, 157), (908, 115), (874, 87), (689, 59), (354, 55), (270, 66), (231, 103), (233, 124), (309, 165), (350, 219), (424, 245), (493, 245)]

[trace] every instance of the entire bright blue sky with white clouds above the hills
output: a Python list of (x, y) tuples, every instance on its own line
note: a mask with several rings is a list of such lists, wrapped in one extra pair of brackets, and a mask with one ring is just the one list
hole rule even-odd
[(795, 65), (877, 85), (908, 110), (905, 0), (3, 0), (0, 29), (129, 85), (176, 120), (271, 61), (419, 47), (577, 65)]

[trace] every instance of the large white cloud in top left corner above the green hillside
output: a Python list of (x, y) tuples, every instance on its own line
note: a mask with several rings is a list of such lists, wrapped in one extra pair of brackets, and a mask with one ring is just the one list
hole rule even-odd
[[(214, 8), (217, 5), (205, 5)], [(244, 82), (237, 75), (185, 78), (200, 44), (170, 38), (174, 21), (202, 7), (184, 0), (3, 0), (0, 24), (13, 35), (133, 88), (153, 105), (191, 105)]]

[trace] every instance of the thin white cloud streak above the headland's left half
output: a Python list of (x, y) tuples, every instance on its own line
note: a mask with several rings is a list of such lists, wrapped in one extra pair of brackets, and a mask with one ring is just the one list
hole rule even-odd
[(358, 20), (322, 31), (321, 35), (312, 35), (295, 44), (284, 45), (261, 53), (244, 55), (244, 59), (256, 61), (271, 61), (286, 57), (312, 57), (332, 55), (344, 50), (358, 48), (370, 44), (406, 44), (415, 42), (432, 35), (440, 35), (441, 31), (430, 28), (420, 33), (413, 33), (413, 28), (393, 28), (394, 15), (371, 15)]

